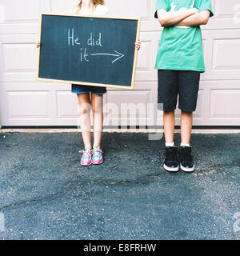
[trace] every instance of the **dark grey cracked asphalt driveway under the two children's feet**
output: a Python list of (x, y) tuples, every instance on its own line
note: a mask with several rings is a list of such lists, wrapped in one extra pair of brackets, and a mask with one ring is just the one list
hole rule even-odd
[(0, 134), (0, 239), (240, 238), (240, 134), (191, 145), (196, 171), (169, 174), (148, 134), (103, 134), (90, 167), (78, 133)]

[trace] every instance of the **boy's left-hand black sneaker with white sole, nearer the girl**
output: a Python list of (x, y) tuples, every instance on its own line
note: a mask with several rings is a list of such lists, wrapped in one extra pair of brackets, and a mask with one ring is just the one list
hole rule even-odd
[(177, 172), (178, 167), (178, 147), (177, 146), (166, 146), (165, 160), (163, 168), (170, 172)]

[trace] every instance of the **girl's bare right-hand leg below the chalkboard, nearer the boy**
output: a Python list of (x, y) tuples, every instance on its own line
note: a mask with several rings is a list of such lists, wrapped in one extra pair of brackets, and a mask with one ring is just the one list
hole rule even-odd
[(94, 146), (101, 146), (102, 141), (102, 94), (91, 94), (91, 106), (93, 110)]

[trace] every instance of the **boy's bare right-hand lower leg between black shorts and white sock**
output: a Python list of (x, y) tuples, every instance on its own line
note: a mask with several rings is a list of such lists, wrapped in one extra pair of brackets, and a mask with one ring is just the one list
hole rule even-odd
[(193, 113), (184, 112), (181, 114), (181, 142), (190, 144), (190, 137), (193, 124)]

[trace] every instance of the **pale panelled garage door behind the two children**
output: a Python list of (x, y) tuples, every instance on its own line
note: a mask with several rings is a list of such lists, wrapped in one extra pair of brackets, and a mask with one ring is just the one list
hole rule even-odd
[[(70, 85), (35, 80), (39, 13), (66, 13), (73, 2), (0, 1), (2, 126), (76, 125), (77, 98), (70, 93)], [(201, 79), (194, 125), (240, 126), (240, 5), (238, 0), (211, 2), (215, 15), (202, 28), (206, 73)], [(162, 29), (154, 19), (154, 0), (107, 0), (106, 5), (111, 14), (142, 17), (141, 39), (144, 42), (138, 54), (135, 90), (110, 89), (104, 97), (105, 103), (112, 103), (106, 124), (129, 124), (131, 113), (121, 112), (122, 103), (132, 103), (132, 106), (141, 103), (138, 106), (144, 109), (147, 103), (157, 101), (154, 62)], [(145, 117), (145, 114), (137, 116), (138, 120)]]

